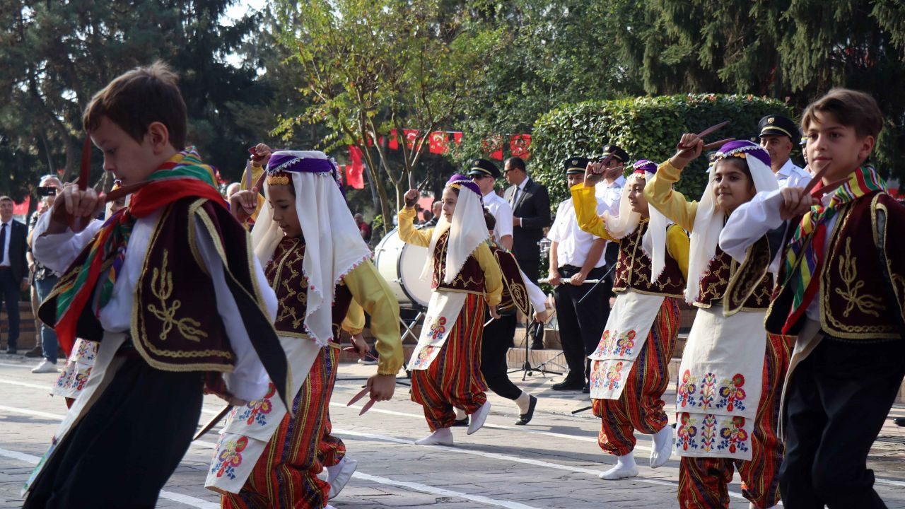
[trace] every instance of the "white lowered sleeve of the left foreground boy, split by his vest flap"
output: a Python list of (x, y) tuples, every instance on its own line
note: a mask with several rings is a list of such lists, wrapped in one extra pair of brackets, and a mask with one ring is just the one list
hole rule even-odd
[[(270, 379), (267, 377), (267, 372), (258, 358), (258, 352), (254, 351), (252, 347), (252, 341), (248, 337), (249, 331), (245, 330), (245, 324), (233, 299), (233, 293), (230, 292), (229, 286), (226, 285), (224, 265), (214, 248), (214, 241), (211, 239), (210, 234), (207, 233), (207, 229), (202, 225), (200, 219), (195, 219), (195, 232), (198, 234), (198, 249), (201, 252), (201, 257), (204, 258), (211, 274), (211, 279), (214, 282), (214, 299), (217, 303), (217, 312), (224, 322), (224, 329), (236, 356), (233, 372), (223, 374), (226, 388), (229, 389), (233, 396), (239, 399), (245, 399), (246, 401), (262, 399), (264, 394), (267, 393), (267, 385)], [(271, 321), (274, 321), (277, 315), (276, 294), (273, 293), (271, 285), (267, 283), (267, 278), (264, 276), (264, 271), (261, 268), (261, 264), (258, 263), (257, 257), (252, 258), (254, 260), (253, 275), (257, 279), (258, 288), (261, 290), (267, 314)]]

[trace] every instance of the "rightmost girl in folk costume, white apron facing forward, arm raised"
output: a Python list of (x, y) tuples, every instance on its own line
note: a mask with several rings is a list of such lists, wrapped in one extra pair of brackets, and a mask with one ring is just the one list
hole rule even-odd
[(651, 206), (691, 232), (685, 300), (698, 311), (676, 390), (679, 503), (728, 507), (727, 485), (738, 469), (751, 507), (771, 507), (779, 502), (776, 418), (787, 365), (784, 338), (764, 330), (773, 275), (750, 254), (738, 264), (717, 243), (736, 207), (778, 184), (766, 150), (730, 141), (716, 154), (700, 203), (687, 202), (672, 184), (702, 149), (697, 135), (682, 135), (676, 154), (644, 187)]

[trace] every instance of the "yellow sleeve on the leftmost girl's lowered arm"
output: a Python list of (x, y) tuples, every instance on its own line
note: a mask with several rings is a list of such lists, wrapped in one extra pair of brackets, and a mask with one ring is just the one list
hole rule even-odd
[(377, 374), (395, 375), (402, 368), (402, 339), (399, 337), (399, 303), (384, 278), (370, 260), (352, 269), (343, 278), (352, 297), (371, 315), (371, 333), (376, 339)]

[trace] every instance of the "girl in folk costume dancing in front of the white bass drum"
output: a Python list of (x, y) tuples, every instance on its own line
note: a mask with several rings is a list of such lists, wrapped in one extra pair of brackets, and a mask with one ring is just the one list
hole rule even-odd
[(472, 416), (469, 435), (484, 425), (490, 413), (484, 394), (487, 383), (481, 375), (481, 333), (485, 305), (490, 305), (493, 318), (500, 318), (496, 311), (502, 293), (500, 264), (487, 245), (481, 190), (471, 179), (453, 175), (446, 183), (443, 216), (435, 228), (414, 229), (417, 198), (415, 189), (405, 193), (399, 237), (427, 247), (421, 277), (432, 278), (433, 293), (408, 369), (412, 400), (424, 407), (433, 433), (415, 443), (451, 445), (453, 407)]

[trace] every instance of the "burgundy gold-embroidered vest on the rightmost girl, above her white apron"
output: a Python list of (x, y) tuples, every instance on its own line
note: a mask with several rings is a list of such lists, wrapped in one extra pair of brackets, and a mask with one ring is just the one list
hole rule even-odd
[[(763, 239), (761, 239), (763, 240)], [(717, 247), (717, 252), (710, 260), (704, 276), (700, 279), (698, 299), (694, 305), (709, 308), (714, 303), (724, 303), (728, 294), (741, 294), (741, 299), (734, 299), (733, 304), (725, 305), (728, 312), (766, 310), (770, 305), (770, 293), (773, 290), (773, 275), (757, 274), (751, 277), (747, 270), (750, 256), (744, 266)], [(735, 301), (740, 301), (736, 303)]]

